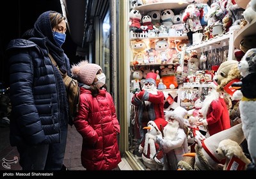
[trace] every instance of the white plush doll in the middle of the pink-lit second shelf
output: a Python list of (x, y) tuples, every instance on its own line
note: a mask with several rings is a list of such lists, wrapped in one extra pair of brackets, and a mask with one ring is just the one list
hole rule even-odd
[(167, 53), (167, 50), (169, 49), (168, 41), (164, 39), (157, 40), (155, 48), (158, 54), (157, 62), (166, 63), (170, 59)]

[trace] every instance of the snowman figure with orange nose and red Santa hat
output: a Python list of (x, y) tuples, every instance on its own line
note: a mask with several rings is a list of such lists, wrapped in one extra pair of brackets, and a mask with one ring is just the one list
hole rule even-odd
[(147, 129), (145, 140), (139, 146), (139, 152), (142, 153), (141, 159), (145, 166), (152, 170), (163, 169), (163, 150), (156, 142), (156, 136), (161, 134), (161, 125), (164, 128), (167, 121), (163, 118), (157, 118), (154, 121), (148, 121), (148, 126), (143, 127)]

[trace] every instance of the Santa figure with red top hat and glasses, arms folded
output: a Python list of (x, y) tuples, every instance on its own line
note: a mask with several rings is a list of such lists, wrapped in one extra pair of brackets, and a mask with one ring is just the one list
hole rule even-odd
[(164, 118), (164, 94), (156, 88), (157, 74), (149, 72), (140, 92), (134, 94), (131, 103), (136, 105), (135, 128), (138, 128), (139, 143), (145, 138), (148, 121)]

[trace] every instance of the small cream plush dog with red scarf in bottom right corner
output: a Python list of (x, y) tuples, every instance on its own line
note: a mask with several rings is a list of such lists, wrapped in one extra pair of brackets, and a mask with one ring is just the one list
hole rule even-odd
[(220, 141), (216, 153), (221, 158), (225, 157), (226, 159), (223, 170), (246, 170), (248, 164), (251, 162), (244, 155), (241, 146), (231, 139)]

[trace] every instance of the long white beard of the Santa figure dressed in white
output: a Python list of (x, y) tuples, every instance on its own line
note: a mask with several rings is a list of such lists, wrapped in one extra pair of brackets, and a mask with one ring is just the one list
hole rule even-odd
[(164, 127), (164, 139), (174, 140), (177, 136), (177, 130), (179, 128), (179, 121), (168, 121), (166, 127)]

